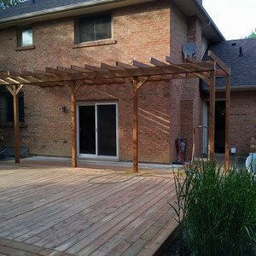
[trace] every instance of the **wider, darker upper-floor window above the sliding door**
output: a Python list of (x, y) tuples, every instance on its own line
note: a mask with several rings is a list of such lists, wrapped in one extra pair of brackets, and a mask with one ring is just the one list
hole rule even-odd
[(77, 43), (112, 38), (111, 15), (96, 15), (80, 18), (77, 21)]

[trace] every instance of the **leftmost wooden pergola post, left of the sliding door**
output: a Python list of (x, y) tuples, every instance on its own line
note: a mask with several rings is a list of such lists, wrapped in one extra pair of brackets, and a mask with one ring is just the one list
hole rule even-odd
[(13, 85), (14, 123), (15, 123), (15, 163), (20, 163), (20, 117), (19, 117), (19, 86)]

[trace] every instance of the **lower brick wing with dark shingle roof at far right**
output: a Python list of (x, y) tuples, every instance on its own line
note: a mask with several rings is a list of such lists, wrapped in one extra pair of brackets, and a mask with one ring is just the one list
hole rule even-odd
[[(236, 155), (247, 155), (251, 137), (256, 137), (256, 39), (215, 42), (208, 49), (231, 68), (230, 147), (236, 148)], [(216, 87), (215, 152), (223, 154), (224, 79), (217, 79)], [(201, 89), (207, 124), (207, 88)], [(206, 139), (205, 135), (205, 142)]]

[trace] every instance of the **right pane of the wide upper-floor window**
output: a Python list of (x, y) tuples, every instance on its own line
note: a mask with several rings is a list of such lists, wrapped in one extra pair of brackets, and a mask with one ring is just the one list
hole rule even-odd
[(96, 40), (111, 38), (111, 15), (96, 17)]

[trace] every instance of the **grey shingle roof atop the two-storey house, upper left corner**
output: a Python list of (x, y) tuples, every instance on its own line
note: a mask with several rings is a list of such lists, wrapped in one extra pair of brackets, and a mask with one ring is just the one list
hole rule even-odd
[[(100, 0), (95, 0), (95, 2), (96, 1)], [(34, 3), (32, 0), (28, 0), (23, 3), (18, 3), (13, 7), (9, 7), (8, 9), (0, 10), (0, 19), (86, 2), (91, 2), (91, 0), (35, 0)]]

